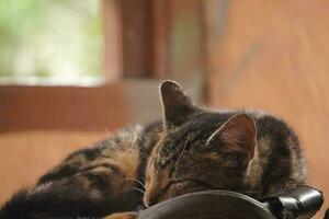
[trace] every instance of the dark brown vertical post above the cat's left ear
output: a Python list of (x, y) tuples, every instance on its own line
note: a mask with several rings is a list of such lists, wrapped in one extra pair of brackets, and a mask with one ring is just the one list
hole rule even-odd
[(125, 78), (154, 74), (152, 1), (122, 0), (123, 73)]

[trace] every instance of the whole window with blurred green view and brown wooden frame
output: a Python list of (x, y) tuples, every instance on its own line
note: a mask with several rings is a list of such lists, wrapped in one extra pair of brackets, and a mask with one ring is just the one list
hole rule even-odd
[(177, 79), (202, 97), (202, 2), (0, 1), (0, 132), (159, 118), (149, 79)]

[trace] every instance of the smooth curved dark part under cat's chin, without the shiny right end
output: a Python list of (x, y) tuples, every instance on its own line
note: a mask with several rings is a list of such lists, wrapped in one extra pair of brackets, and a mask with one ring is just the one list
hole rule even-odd
[(265, 204), (229, 191), (206, 191), (179, 196), (138, 214), (138, 219), (273, 219)]

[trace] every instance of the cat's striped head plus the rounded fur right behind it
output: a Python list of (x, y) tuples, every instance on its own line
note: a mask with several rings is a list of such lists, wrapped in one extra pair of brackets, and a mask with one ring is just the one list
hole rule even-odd
[(173, 81), (160, 92), (164, 129), (146, 169), (146, 206), (204, 189), (258, 198), (306, 184), (298, 139), (281, 119), (198, 107)]

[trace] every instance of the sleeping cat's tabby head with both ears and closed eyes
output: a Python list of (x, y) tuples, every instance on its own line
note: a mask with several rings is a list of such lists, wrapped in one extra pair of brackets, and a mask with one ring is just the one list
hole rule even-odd
[(197, 191), (238, 189), (253, 158), (253, 119), (197, 107), (174, 81), (162, 82), (160, 95), (164, 128), (147, 163), (145, 205)]

